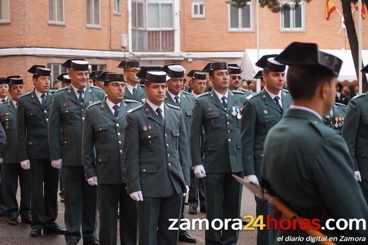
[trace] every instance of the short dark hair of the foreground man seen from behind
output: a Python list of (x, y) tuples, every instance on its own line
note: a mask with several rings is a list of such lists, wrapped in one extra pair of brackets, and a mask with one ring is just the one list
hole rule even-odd
[(316, 65), (292, 65), (287, 74), (288, 89), (293, 99), (313, 98), (318, 86), (335, 77), (333, 73)]

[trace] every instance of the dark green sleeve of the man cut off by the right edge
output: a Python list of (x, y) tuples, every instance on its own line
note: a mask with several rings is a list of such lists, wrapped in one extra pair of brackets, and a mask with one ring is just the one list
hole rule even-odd
[(358, 164), (355, 158), (355, 143), (356, 136), (358, 134), (359, 121), (359, 106), (356, 104), (356, 100), (350, 100), (344, 117), (342, 137), (345, 139), (349, 147), (350, 155), (353, 158), (354, 171), (358, 170)]

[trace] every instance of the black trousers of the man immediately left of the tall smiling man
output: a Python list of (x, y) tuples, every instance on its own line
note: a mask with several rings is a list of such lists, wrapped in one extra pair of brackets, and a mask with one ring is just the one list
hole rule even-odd
[(58, 170), (50, 159), (30, 160), (31, 166), (31, 228), (53, 228), (58, 216)]

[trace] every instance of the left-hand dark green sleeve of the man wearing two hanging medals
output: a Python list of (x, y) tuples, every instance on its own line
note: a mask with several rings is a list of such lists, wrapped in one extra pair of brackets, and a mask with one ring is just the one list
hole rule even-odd
[(203, 110), (199, 100), (197, 99), (194, 103), (189, 126), (189, 146), (192, 166), (202, 164), (202, 147), (199, 147), (203, 143), (201, 142), (201, 135), (203, 134), (202, 126)]

